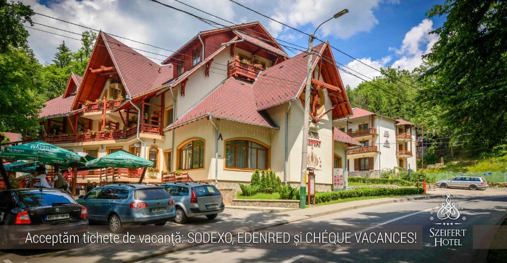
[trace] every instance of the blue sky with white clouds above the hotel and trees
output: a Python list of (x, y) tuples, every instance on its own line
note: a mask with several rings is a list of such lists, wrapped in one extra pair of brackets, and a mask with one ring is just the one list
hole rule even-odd
[[(189, 11), (210, 20), (224, 23), (190, 9), (174, 0), (161, 0), (163, 3)], [(235, 23), (260, 21), (275, 37), (306, 47), (307, 36), (286, 28), (267, 18), (248, 11), (228, 0), (181, 0), (191, 6), (205, 10)], [(412, 70), (422, 61), (421, 56), (429, 51), (437, 35), (427, 33), (442, 25), (443, 18), (426, 20), (425, 13), (443, 1), (424, 0), (237, 0), (269, 17), (297, 27), (305, 32), (313, 32), (320, 22), (344, 8), (349, 13), (333, 19), (321, 27), (317, 36), (329, 39), (331, 45), (352, 55), (374, 68), (385, 66)], [(177, 50), (197, 32), (212, 27), (201, 21), (147, 0), (22, 0), (42, 14), (88, 27), (101, 29), (108, 33), (125, 36), (150, 43), (169, 50)], [(212, 3), (212, 5), (210, 5)], [(81, 33), (84, 29), (75, 25), (35, 15), (38, 23)], [(64, 35), (75, 36), (62, 31), (35, 26)], [(62, 40), (72, 50), (80, 47), (80, 42), (44, 32), (29, 30), (29, 45), (42, 62), (51, 62), (56, 47)], [(121, 40), (121, 39), (120, 39)], [(145, 49), (160, 54), (164, 59), (170, 52), (122, 40), (127, 46)], [(141, 52), (142, 53), (142, 52)], [(334, 51), (338, 62), (369, 77), (379, 73), (357, 61)], [(153, 56), (144, 54), (147, 56)], [(290, 53), (289, 55), (294, 55)], [(160, 63), (160, 60), (155, 60)], [(355, 87), (361, 80), (342, 73), (345, 84)]]

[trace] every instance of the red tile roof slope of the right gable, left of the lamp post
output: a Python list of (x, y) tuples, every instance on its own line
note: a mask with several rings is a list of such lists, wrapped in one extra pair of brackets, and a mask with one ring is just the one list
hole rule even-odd
[[(320, 54), (323, 47), (324, 43), (320, 43), (313, 50)], [(312, 57), (313, 67), (317, 58)], [(307, 63), (308, 57), (302, 52), (262, 71), (253, 83), (258, 109), (271, 108), (297, 98), (306, 79)]]

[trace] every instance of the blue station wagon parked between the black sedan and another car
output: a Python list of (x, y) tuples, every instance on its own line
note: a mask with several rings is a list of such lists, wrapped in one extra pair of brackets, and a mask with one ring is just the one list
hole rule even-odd
[(110, 184), (80, 196), (88, 209), (88, 220), (108, 224), (113, 233), (125, 225), (163, 226), (174, 219), (174, 199), (162, 187), (142, 184)]

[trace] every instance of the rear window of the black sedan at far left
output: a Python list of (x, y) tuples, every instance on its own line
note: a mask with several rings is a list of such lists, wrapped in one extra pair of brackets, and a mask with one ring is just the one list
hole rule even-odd
[(76, 201), (68, 194), (59, 191), (32, 191), (19, 192), (19, 202), (22, 208), (41, 207), (41, 206), (57, 206), (66, 204), (75, 204)]

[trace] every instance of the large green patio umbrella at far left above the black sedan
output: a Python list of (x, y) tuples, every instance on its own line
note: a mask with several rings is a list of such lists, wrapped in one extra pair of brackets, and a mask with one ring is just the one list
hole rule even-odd
[(43, 141), (7, 147), (0, 153), (0, 158), (42, 161), (51, 164), (67, 164), (81, 160), (78, 154)]

